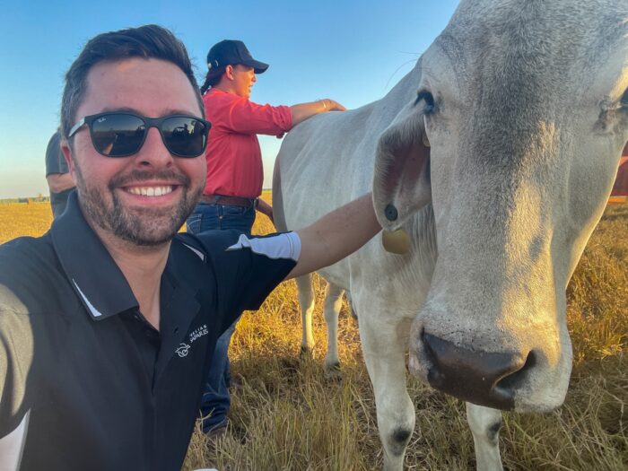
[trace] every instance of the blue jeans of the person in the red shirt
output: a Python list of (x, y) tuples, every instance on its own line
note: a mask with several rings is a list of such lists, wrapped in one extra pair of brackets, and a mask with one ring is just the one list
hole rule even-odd
[[(192, 234), (214, 229), (235, 229), (250, 235), (253, 222), (255, 222), (254, 207), (199, 203), (189, 215), (186, 224), (188, 232)], [(231, 368), (228, 353), (231, 336), (237, 323), (238, 319), (216, 341), (214, 357), (201, 399), (201, 414), (204, 417), (203, 432), (210, 432), (227, 423), (227, 413), (231, 406), (229, 397)]]

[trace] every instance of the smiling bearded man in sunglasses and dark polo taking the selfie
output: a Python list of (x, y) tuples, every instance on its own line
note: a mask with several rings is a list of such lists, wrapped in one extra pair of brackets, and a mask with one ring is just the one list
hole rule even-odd
[(77, 192), (44, 236), (0, 247), (0, 469), (180, 469), (218, 336), (371, 239), (371, 196), (298, 232), (178, 235), (211, 126), (183, 45), (105, 33), (65, 79)]

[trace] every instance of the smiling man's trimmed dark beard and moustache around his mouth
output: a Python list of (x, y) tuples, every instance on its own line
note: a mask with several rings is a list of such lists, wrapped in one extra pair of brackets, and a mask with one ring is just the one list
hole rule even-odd
[[(76, 175), (79, 201), (92, 223), (113, 233), (119, 239), (138, 246), (159, 246), (169, 242), (192, 213), (198, 197), (203, 192), (202, 186), (190, 188), (190, 179), (173, 170), (158, 172), (133, 170), (124, 177), (114, 177), (109, 181), (108, 189), (111, 196), (109, 203), (99, 188), (86, 184), (78, 166)], [(115, 188), (121, 188), (126, 183), (141, 186), (143, 181), (149, 180), (176, 181), (182, 195), (179, 205), (167, 210), (161, 207), (129, 208), (120, 202)]]

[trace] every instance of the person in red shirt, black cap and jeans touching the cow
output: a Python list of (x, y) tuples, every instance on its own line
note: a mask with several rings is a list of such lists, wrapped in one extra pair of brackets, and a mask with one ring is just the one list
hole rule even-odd
[[(188, 232), (234, 229), (250, 235), (256, 209), (273, 220), (273, 209), (259, 199), (264, 170), (258, 134), (281, 137), (319, 113), (344, 111), (334, 100), (292, 106), (258, 105), (249, 100), (256, 74), (268, 65), (251, 57), (240, 40), (225, 39), (207, 54), (209, 71), (201, 87), (206, 119), (212, 123), (207, 176), (201, 200), (188, 217)], [(231, 404), (228, 349), (235, 323), (218, 339), (201, 402), (204, 432), (222, 432)]]

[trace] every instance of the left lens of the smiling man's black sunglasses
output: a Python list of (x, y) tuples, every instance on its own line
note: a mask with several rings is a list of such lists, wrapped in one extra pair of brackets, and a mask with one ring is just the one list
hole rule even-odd
[(110, 114), (92, 122), (92, 143), (98, 152), (109, 157), (123, 157), (139, 151), (146, 126), (133, 115)]

